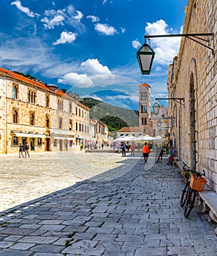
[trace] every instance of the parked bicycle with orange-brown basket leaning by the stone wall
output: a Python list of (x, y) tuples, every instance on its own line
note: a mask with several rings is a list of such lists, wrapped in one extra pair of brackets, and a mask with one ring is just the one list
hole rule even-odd
[[(183, 170), (186, 170), (185, 166), (186, 165), (183, 166)], [(194, 208), (194, 202), (197, 192), (202, 191), (205, 183), (207, 182), (205, 178), (202, 177), (205, 176), (205, 170), (203, 170), (203, 173), (198, 173), (197, 171), (190, 170), (189, 168), (187, 170), (189, 170), (191, 178), (189, 179), (189, 181), (186, 182), (180, 198), (180, 206), (185, 206), (184, 216), (186, 218), (189, 217), (191, 210)]]

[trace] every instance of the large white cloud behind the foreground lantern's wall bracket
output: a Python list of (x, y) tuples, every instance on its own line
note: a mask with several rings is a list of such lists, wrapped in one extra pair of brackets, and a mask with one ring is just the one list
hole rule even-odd
[[(147, 23), (146, 34), (170, 34), (167, 23), (164, 20), (157, 20), (154, 23)], [(170, 29), (172, 31), (172, 29)], [(170, 64), (177, 55), (180, 45), (180, 37), (156, 37), (151, 39), (151, 48), (155, 51), (155, 61), (158, 64)]]

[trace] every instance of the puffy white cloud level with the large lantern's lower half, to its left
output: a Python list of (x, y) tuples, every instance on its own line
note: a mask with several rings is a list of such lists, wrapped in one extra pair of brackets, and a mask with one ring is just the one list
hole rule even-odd
[(99, 63), (98, 59), (88, 59), (80, 64), (83, 72), (89, 75), (110, 75), (110, 69)]

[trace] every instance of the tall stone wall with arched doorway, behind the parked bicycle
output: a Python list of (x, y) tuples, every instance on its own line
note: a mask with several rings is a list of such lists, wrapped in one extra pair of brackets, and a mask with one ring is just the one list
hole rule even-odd
[[(205, 170), (208, 185), (217, 192), (217, 8), (216, 1), (189, 0), (183, 34), (213, 33), (197, 38), (182, 37), (178, 56), (169, 67), (167, 89), (172, 101), (169, 115), (178, 157), (194, 170)], [(195, 38), (194, 38), (195, 39)]]

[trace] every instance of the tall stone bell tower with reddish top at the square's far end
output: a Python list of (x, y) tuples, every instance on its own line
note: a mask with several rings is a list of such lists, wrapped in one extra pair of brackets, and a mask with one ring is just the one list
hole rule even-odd
[(139, 85), (139, 127), (143, 135), (153, 136), (151, 121), (151, 86)]

